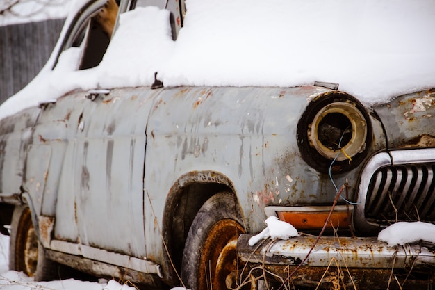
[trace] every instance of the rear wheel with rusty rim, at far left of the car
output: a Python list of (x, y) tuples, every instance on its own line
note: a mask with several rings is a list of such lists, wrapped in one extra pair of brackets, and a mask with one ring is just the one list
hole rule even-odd
[(31, 211), (27, 206), (15, 207), (10, 234), (10, 270), (22, 271), (36, 281), (59, 280), (65, 266), (45, 257), (33, 227)]

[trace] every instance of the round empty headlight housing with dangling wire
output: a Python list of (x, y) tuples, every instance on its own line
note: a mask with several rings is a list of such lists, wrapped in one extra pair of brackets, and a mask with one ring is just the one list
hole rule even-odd
[(313, 100), (297, 124), (302, 158), (320, 172), (339, 173), (361, 163), (372, 141), (366, 108), (343, 92)]

